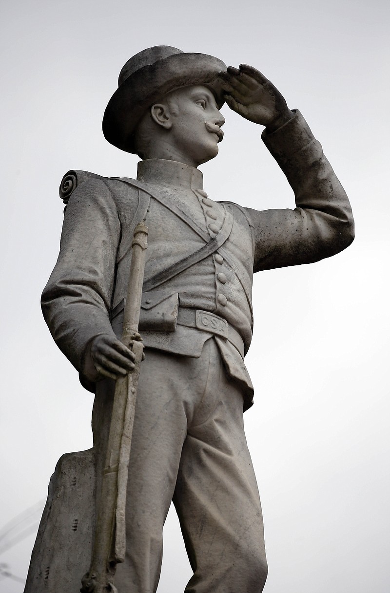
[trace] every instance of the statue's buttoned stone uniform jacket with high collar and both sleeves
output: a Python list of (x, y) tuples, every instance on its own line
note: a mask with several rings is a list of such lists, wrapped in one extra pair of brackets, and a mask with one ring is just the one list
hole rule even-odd
[[(201, 172), (175, 161), (140, 162), (137, 182), (90, 178), (75, 189), (42, 308), (53, 338), (82, 376), (93, 337), (121, 334), (135, 224), (145, 218), (149, 227), (144, 287), (202, 247), (204, 235), (216, 237), (230, 225), (229, 237), (215, 253), (144, 292), (142, 306), (151, 322), (142, 337), (145, 346), (196, 357), (213, 336), (249, 405), (253, 388), (243, 356), (252, 336), (253, 272), (316, 262), (353, 240), (348, 198), (299, 111), (275, 132), (265, 130), (262, 139), (286, 174), (295, 209), (256, 211), (214, 202), (203, 190)], [(180, 311), (201, 310), (226, 320), (241, 343), (208, 332), (207, 316), (205, 327), (189, 327), (179, 316), (169, 331), (156, 330), (153, 311), (175, 309), (177, 302)]]

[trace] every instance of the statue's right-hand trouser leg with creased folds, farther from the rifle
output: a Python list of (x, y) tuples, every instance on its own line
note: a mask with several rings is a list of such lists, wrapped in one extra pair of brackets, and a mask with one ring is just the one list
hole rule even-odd
[(260, 593), (267, 562), (242, 394), (222, 364), (207, 390), (209, 415), (199, 409), (189, 426), (173, 499), (194, 570), (186, 593)]

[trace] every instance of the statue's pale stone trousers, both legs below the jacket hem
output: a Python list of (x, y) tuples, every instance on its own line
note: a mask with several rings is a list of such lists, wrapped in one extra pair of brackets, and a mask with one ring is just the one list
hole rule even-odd
[(214, 339), (200, 358), (147, 349), (126, 499), (121, 593), (155, 593), (173, 500), (194, 575), (185, 593), (260, 593), (267, 576), (243, 396)]

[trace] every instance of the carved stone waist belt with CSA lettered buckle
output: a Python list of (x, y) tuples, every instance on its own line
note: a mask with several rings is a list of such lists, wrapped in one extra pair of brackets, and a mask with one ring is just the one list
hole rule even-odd
[(207, 331), (215, 336), (224, 337), (239, 351), (244, 358), (245, 346), (242, 337), (234, 327), (229, 326), (226, 319), (209, 311), (179, 307), (177, 312), (177, 325), (195, 327)]

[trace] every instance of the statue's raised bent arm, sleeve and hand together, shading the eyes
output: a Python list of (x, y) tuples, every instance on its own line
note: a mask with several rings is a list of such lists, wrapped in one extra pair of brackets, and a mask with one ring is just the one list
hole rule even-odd
[(221, 78), (229, 107), (266, 126), (262, 139), (296, 200), (294, 210), (248, 209), (254, 271), (316, 262), (348, 247), (354, 238), (348, 197), (299, 111), (288, 109), (277, 88), (251, 66), (229, 66)]

